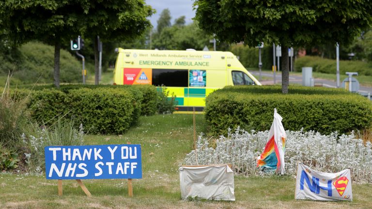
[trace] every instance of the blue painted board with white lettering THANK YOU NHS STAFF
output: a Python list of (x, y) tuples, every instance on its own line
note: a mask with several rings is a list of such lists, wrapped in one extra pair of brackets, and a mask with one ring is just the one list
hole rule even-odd
[(141, 146), (45, 147), (47, 179), (141, 179)]

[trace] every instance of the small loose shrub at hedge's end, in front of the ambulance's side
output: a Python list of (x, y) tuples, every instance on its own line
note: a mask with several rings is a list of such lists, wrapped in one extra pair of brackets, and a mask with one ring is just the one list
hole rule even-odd
[(176, 105), (176, 97), (174, 94), (169, 98), (169, 90), (167, 87), (161, 86), (157, 87), (157, 100), (156, 106), (159, 114), (171, 114), (174, 112), (174, 107)]

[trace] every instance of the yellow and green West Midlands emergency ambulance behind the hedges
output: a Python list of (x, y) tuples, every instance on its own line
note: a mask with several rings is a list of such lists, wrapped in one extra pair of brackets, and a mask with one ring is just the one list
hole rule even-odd
[(118, 49), (114, 85), (166, 86), (178, 111), (202, 111), (205, 97), (228, 85), (261, 85), (231, 52)]

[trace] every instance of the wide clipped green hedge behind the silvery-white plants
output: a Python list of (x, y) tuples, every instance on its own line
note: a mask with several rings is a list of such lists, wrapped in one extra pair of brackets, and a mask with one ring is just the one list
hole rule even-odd
[(314, 130), (323, 134), (348, 133), (372, 126), (372, 103), (340, 89), (290, 86), (281, 94), (277, 86), (235, 86), (206, 98), (205, 119), (210, 131), (226, 133), (230, 127), (269, 130), (274, 108), (286, 130)]

